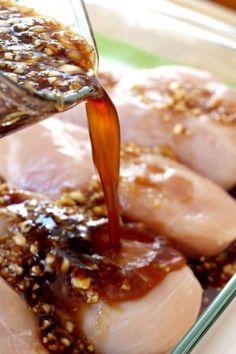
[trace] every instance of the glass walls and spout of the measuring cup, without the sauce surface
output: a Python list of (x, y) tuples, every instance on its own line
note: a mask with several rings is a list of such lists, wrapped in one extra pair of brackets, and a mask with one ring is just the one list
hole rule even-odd
[[(32, 0), (11, 1), (33, 8), (40, 15), (59, 20), (73, 32), (80, 34), (91, 47), (93, 53), (93, 68), (89, 75), (96, 73), (98, 54), (91, 24), (82, 0)], [(1, 5), (1, 3), (0, 3)], [(3, 16), (0, 13), (0, 17)], [(1, 20), (4, 20), (1, 18)], [(1, 21), (0, 21), (1, 22)], [(1, 31), (0, 31), (1, 38)], [(89, 85), (87, 76), (81, 77), (81, 87), (77, 90), (63, 93), (58, 98), (56, 94), (41, 94), (40, 91), (31, 92), (25, 87), (9, 79), (0, 72), (0, 137), (14, 132), (24, 126), (36, 123), (58, 111), (60, 101), (61, 110), (96, 96), (96, 90)]]

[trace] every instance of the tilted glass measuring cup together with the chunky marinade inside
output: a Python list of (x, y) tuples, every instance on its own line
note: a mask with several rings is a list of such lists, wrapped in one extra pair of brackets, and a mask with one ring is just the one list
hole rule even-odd
[(0, 0), (0, 49), (0, 137), (99, 95), (82, 0)]

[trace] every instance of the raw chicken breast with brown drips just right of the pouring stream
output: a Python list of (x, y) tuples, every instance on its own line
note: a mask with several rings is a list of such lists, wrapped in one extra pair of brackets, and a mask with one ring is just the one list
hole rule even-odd
[(128, 147), (119, 193), (126, 216), (167, 235), (185, 254), (217, 255), (236, 239), (235, 200), (160, 154)]

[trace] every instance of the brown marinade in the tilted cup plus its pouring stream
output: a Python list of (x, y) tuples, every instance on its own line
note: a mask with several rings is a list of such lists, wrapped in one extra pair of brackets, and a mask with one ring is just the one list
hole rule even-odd
[[(2, 74), (26, 89), (28, 94), (54, 97), (55, 111), (68, 108), (64, 106), (68, 94), (85, 87), (90, 87), (94, 92), (94, 96), (87, 98), (86, 103), (89, 132), (93, 158), (108, 208), (110, 246), (117, 251), (119, 121), (111, 100), (93, 75), (94, 60), (94, 50), (83, 37), (32, 9), (11, 1), (0, 1)], [(0, 112), (0, 136), (36, 122), (35, 116), (29, 117), (24, 109), (8, 106), (5, 101), (4, 97), (2, 117)], [(42, 112), (38, 112), (38, 115), (38, 119), (44, 116)]]

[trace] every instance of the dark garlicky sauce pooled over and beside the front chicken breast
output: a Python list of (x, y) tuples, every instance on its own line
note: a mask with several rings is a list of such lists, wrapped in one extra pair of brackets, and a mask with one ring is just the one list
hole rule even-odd
[(185, 264), (165, 238), (135, 224), (121, 227), (121, 251), (111, 254), (107, 221), (93, 214), (93, 196), (71, 196), (79, 202), (65, 207), (0, 186), (0, 216), (9, 220), (0, 275), (32, 308), (50, 353), (94, 352), (78, 328), (81, 301), (139, 298)]

